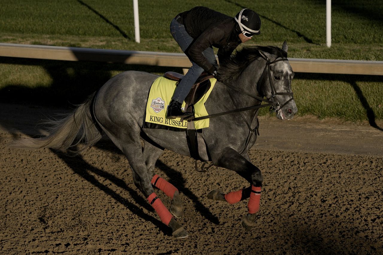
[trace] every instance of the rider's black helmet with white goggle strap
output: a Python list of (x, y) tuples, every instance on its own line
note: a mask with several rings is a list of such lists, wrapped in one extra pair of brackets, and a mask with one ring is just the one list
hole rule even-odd
[(239, 29), (246, 37), (252, 37), (254, 34), (260, 34), (261, 19), (259, 15), (250, 9), (242, 9), (234, 17), (239, 25)]

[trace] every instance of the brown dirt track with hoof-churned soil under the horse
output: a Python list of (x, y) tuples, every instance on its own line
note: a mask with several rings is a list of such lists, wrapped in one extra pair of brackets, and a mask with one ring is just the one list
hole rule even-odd
[(178, 222), (189, 232), (176, 240), (110, 141), (75, 158), (49, 149), (10, 149), (12, 133), (38, 134), (44, 115), (65, 110), (0, 107), (0, 253), (383, 253), (383, 132), (376, 128), (260, 119), (250, 158), (265, 180), (250, 232), (241, 227), (246, 202), (206, 198), (215, 188), (244, 187), (241, 177), (217, 167), (200, 174), (192, 159), (165, 151), (157, 172), (183, 194)]

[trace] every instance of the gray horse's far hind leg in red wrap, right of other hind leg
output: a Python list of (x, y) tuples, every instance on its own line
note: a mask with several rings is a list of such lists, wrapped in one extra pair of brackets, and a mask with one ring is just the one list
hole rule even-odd
[(169, 198), (172, 199), (172, 205), (170, 206), (170, 213), (177, 219), (182, 217), (183, 204), (180, 197), (180, 193), (176, 187), (159, 177), (159, 175), (153, 175), (155, 162), (164, 151), (163, 148), (153, 145), (149, 141), (144, 141), (144, 158), (145, 164), (148, 169), (149, 176), (153, 176), (151, 183), (153, 186), (159, 188)]

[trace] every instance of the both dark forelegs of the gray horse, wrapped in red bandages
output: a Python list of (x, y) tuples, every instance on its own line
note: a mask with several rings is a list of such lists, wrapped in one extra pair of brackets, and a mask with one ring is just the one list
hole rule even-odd
[(226, 195), (223, 195), (223, 192), (221, 193), (220, 191), (213, 190), (213, 193), (211, 192), (209, 195), (210, 197), (215, 197), (214, 199), (218, 198), (217, 200), (223, 200), (224, 198), (225, 201), (228, 201), (228, 203), (231, 204), (237, 203), (249, 197), (250, 199), (247, 204), (248, 214), (242, 219), (242, 226), (246, 230), (250, 230), (254, 225), (255, 213), (259, 210), (260, 192), (263, 182), (261, 171), (258, 167), (254, 166), (232, 148), (225, 148), (215, 163), (216, 164), (214, 165), (216, 166), (235, 171), (237, 174), (249, 181), (250, 187), (248, 188), (244, 188), (236, 192), (230, 192)]

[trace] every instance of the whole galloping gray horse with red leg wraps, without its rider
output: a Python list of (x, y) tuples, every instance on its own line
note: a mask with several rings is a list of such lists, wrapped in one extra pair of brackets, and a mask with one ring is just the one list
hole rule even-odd
[[(221, 63), (218, 81), (205, 103), (208, 113), (257, 106), (266, 97), (263, 101), (272, 102), (278, 119), (292, 119), (297, 108), (291, 91), (294, 73), (286, 58), (287, 49), (286, 42), (282, 49), (273, 46), (243, 48), (230, 61)], [(190, 150), (185, 132), (143, 127), (148, 91), (156, 78), (157, 75), (139, 71), (120, 73), (72, 114), (52, 121), (49, 135), (15, 143), (23, 148), (47, 147), (62, 151), (72, 148), (80, 153), (100, 140), (101, 132), (105, 132), (128, 159), (136, 187), (148, 198), (161, 221), (172, 228), (173, 236), (182, 238), (188, 233), (175, 220), (182, 214), (180, 194), (153, 172), (165, 148), (185, 156), (190, 156)], [(210, 126), (197, 135), (202, 161), (235, 171), (249, 182), (248, 188), (237, 192), (223, 194), (221, 190), (213, 190), (208, 195), (229, 203), (249, 198), (249, 213), (242, 218), (246, 230), (254, 225), (263, 181), (260, 169), (250, 162), (247, 154), (257, 138), (257, 126), (257, 109), (250, 109), (211, 118)], [(80, 142), (83, 143), (81, 149), (76, 146)], [(157, 198), (153, 186), (172, 198), (170, 211), (175, 218)]]

